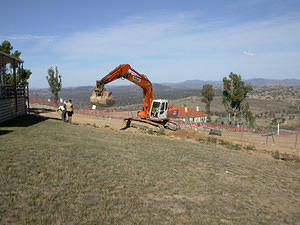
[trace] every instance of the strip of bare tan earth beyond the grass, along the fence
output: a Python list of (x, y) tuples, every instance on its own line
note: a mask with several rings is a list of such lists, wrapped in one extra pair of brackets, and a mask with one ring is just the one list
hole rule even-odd
[[(56, 111), (55, 105), (42, 99), (31, 99), (32, 113), (49, 118), (61, 118), (59, 112)], [(93, 110), (88, 107), (74, 107), (75, 113), (73, 122), (75, 124), (114, 129), (121, 131), (126, 125), (124, 119), (136, 118), (136, 111), (117, 111), (109, 109)], [(46, 110), (45, 110), (46, 109)], [(196, 111), (196, 110), (195, 110)], [(165, 130), (166, 136), (195, 141), (200, 143), (208, 143), (215, 147), (235, 149), (246, 154), (254, 154), (260, 157), (273, 158), (277, 151), (280, 153), (282, 160), (299, 159), (299, 131), (281, 131), (270, 133), (264, 129), (249, 129), (247, 127), (231, 127), (213, 123), (185, 123), (178, 122), (181, 129), (177, 131)], [(218, 130), (220, 134), (212, 135), (211, 130)], [(147, 133), (143, 127), (139, 129), (131, 128), (125, 132)]]

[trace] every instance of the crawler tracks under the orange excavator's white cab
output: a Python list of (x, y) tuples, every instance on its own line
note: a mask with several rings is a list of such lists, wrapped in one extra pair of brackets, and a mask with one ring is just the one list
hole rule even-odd
[(177, 124), (174, 121), (168, 121), (166, 124), (161, 124), (161, 123), (156, 123), (156, 122), (153, 122), (153, 121), (150, 121), (150, 120), (145, 120), (145, 119), (126, 118), (126, 119), (124, 119), (124, 122), (126, 123), (126, 125), (121, 130), (125, 130), (129, 127), (147, 128), (145, 126), (141, 126), (141, 125), (137, 125), (135, 123), (132, 123), (133, 121), (152, 125), (152, 126), (154, 126), (154, 128), (156, 128), (156, 130), (155, 130), (156, 132), (163, 131), (164, 128), (172, 130), (172, 131), (176, 131), (176, 130), (180, 129), (179, 124)]

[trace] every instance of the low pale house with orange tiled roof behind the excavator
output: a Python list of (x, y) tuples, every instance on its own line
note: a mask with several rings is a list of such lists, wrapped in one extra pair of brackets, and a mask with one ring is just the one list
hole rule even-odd
[(207, 114), (200, 112), (199, 107), (194, 110), (186, 106), (182, 106), (173, 108), (170, 111), (171, 114), (173, 114), (173, 116), (171, 117), (173, 120), (181, 120), (185, 123), (206, 123), (207, 120)]

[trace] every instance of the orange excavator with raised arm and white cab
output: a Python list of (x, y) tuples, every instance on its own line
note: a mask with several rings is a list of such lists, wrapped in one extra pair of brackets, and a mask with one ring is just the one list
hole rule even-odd
[(154, 99), (154, 91), (150, 80), (144, 74), (135, 71), (128, 64), (119, 65), (101, 80), (96, 81), (96, 87), (90, 97), (91, 104), (112, 106), (115, 101), (112, 99), (111, 92), (107, 92), (104, 85), (120, 78), (127, 79), (140, 86), (144, 93), (143, 111), (138, 112), (138, 118), (126, 118), (125, 121), (127, 123), (125, 128), (130, 127), (132, 121), (147, 123), (159, 129), (177, 130), (180, 128), (176, 122), (170, 120), (171, 110), (169, 109), (172, 106), (168, 104), (168, 100)]

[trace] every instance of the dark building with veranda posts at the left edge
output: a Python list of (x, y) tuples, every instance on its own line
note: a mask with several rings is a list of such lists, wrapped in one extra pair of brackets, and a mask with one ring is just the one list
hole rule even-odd
[[(13, 84), (7, 84), (4, 79), (9, 64), (12, 65)], [(17, 71), (22, 69), (21, 59), (0, 51), (0, 123), (27, 113), (28, 85), (17, 84)]]

